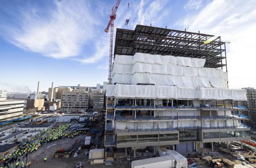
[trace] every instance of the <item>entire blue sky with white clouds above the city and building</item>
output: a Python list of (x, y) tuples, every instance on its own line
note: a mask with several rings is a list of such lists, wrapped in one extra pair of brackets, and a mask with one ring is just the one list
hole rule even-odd
[[(114, 0), (0, 1), (0, 89), (30, 92), (36, 90), (37, 81), (41, 91), (48, 90), (52, 81), (55, 86), (107, 81), (109, 34), (104, 29), (114, 4)], [(200, 30), (230, 41), (230, 87), (256, 87), (256, 1), (121, 1), (115, 28), (150, 23)]]

